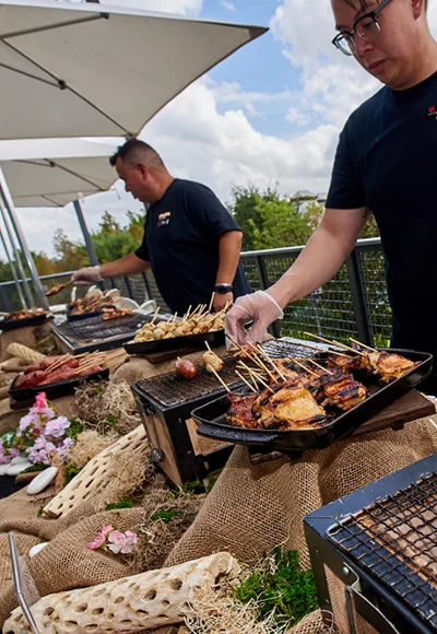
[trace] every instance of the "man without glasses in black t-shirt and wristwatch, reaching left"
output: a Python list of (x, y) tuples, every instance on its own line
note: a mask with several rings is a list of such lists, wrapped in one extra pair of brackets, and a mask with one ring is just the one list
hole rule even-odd
[(199, 183), (174, 178), (149, 144), (130, 139), (110, 158), (126, 190), (149, 204), (144, 237), (134, 251), (73, 273), (75, 284), (152, 268), (174, 313), (209, 304), (214, 310), (250, 292), (239, 262), (243, 234), (216, 196)]

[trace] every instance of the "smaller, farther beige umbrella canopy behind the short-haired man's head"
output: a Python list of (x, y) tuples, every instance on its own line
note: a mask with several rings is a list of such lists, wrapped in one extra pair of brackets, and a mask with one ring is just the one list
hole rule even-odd
[(63, 207), (105, 191), (116, 179), (110, 156), (119, 143), (86, 139), (0, 141), (0, 167), (15, 207)]

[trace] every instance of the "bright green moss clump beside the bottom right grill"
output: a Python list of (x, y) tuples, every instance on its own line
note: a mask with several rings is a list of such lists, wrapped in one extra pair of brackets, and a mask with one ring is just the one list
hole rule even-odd
[(290, 627), (319, 607), (314, 575), (302, 571), (297, 551), (273, 551), (274, 563), (251, 573), (236, 588), (236, 597), (256, 601), (261, 619), (273, 613), (276, 622)]

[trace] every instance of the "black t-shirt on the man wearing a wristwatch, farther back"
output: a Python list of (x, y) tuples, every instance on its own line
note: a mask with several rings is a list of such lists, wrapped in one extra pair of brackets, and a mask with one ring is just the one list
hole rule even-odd
[[(144, 237), (135, 255), (151, 262), (165, 303), (179, 315), (209, 304), (218, 269), (218, 240), (238, 225), (204, 185), (175, 178), (163, 198), (150, 206)], [(234, 297), (250, 293), (241, 263)]]

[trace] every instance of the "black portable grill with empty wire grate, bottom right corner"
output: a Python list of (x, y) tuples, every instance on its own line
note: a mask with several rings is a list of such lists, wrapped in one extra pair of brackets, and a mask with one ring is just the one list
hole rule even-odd
[(315, 510), (304, 526), (322, 610), (332, 612), (333, 573), (352, 633), (354, 612), (382, 634), (437, 632), (437, 454)]

